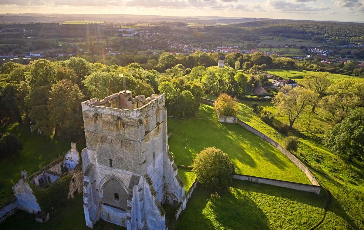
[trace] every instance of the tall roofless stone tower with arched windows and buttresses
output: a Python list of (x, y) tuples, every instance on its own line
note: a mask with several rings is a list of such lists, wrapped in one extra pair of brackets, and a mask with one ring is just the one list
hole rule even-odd
[(168, 149), (165, 95), (132, 98), (124, 88), (82, 103), (86, 225), (101, 218), (127, 229), (165, 229), (161, 204), (178, 204), (184, 186)]

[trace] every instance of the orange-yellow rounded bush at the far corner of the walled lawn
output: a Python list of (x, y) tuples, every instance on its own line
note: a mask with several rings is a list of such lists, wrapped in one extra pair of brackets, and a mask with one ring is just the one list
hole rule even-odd
[(214, 102), (214, 109), (221, 116), (236, 116), (238, 105), (236, 100), (227, 94), (220, 94)]

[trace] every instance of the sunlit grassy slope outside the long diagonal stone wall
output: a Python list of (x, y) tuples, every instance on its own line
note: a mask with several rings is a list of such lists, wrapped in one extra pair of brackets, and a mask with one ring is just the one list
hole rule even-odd
[[(249, 108), (251, 103), (252, 101), (239, 103), (239, 118), (282, 144), (284, 137), (253, 114)], [(277, 112), (269, 102), (258, 104), (266, 110)], [(316, 111), (320, 114), (320, 109)], [(298, 136), (299, 140), (297, 155), (309, 164), (317, 181), (333, 195), (333, 202), (320, 228), (364, 228), (363, 164), (352, 164), (324, 147), (321, 138), (332, 124), (323, 116), (315, 115), (314, 118), (312, 128), (305, 132), (307, 115), (300, 116), (293, 125), (292, 134)], [(276, 116), (274, 124), (281, 122), (286, 123), (287, 118)]]

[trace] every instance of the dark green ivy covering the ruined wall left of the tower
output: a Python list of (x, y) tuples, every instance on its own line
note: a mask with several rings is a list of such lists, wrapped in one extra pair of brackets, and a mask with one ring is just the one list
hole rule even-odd
[(38, 189), (32, 183), (29, 183), (33, 190), (33, 194), (39, 203), (40, 209), (44, 214), (50, 213), (52, 207), (54, 209), (59, 209), (66, 203), (68, 192), (70, 191), (71, 179), (72, 175), (59, 178), (44, 189)]

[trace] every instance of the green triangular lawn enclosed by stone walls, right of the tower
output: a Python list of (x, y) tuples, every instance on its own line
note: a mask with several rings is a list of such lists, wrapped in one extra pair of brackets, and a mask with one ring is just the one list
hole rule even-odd
[(194, 118), (169, 119), (168, 130), (173, 132), (168, 142), (176, 164), (193, 166), (193, 159), (203, 148), (215, 146), (229, 155), (240, 174), (310, 183), (297, 166), (268, 142), (238, 124), (218, 122), (211, 106), (201, 104)]

